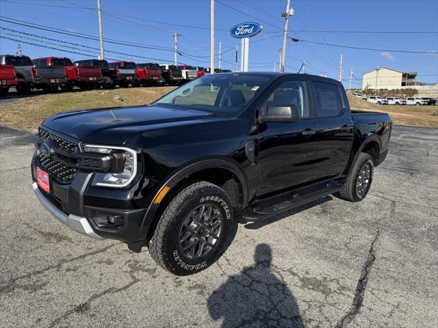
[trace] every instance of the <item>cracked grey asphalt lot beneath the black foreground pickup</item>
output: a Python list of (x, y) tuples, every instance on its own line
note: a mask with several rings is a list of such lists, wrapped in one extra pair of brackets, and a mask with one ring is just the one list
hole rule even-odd
[(31, 190), (31, 135), (0, 134), (2, 328), (438, 327), (437, 129), (396, 126), (363, 202), (240, 225), (189, 277), (56, 221)]

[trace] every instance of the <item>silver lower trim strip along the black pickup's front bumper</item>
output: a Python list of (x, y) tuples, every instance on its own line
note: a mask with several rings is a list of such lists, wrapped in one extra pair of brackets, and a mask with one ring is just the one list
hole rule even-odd
[(42, 206), (44, 206), (51, 213), (51, 215), (64, 223), (71, 230), (75, 230), (80, 234), (85, 234), (95, 239), (104, 239), (103, 237), (99, 236), (99, 234), (94, 232), (90, 226), (90, 223), (88, 223), (88, 220), (85, 217), (79, 217), (73, 214), (66, 215), (61, 210), (56, 208), (51, 202), (49, 202), (46, 197), (44, 197), (40, 189), (38, 189), (38, 184), (36, 184), (36, 182), (32, 183), (32, 187), (34, 188), (34, 193)]

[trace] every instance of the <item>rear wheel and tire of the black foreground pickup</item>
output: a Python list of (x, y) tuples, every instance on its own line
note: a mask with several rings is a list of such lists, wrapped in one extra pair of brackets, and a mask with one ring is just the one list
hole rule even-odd
[(374, 175), (374, 161), (370, 154), (361, 152), (348, 174), (348, 178), (339, 191), (343, 200), (360, 202), (370, 191)]

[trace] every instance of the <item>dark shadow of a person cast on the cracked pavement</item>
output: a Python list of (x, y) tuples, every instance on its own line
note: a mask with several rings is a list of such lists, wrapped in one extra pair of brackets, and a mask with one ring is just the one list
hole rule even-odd
[(272, 249), (259, 244), (255, 264), (231, 275), (209, 296), (209, 314), (222, 327), (304, 327), (292, 291), (271, 272)]

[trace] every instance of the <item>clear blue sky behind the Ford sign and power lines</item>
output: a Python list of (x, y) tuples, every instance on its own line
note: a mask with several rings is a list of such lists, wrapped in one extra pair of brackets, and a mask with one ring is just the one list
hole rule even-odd
[[(197, 66), (209, 66), (209, 0), (101, 0), (104, 38), (149, 44), (171, 50), (172, 33), (178, 32), (179, 62)], [(250, 39), (250, 70), (273, 70), (278, 61), (277, 51), (281, 48), (285, 11), (285, 0), (219, 0), (216, 2), (216, 47), (222, 41), (222, 68), (233, 69), (235, 44), (240, 40), (232, 38), (228, 30), (237, 23), (255, 21), (263, 25), (263, 32)], [(224, 4), (222, 4), (224, 3)], [(402, 51), (438, 51), (438, 33), (339, 33), (308, 31), (438, 31), (438, 1), (372, 1), (372, 0), (306, 0), (291, 1), (295, 10), (289, 20), (289, 36), (315, 42), (341, 44), (373, 49)], [(235, 8), (240, 12), (233, 10)], [(61, 7), (73, 8), (61, 8)], [(99, 35), (96, 0), (0, 0), (0, 15), (26, 22), (47, 25), (93, 36)], [(127, 18), (124, 16), (143, 18)], [(174, 26), (156, 22), (199, 27)], [(65, 36), (50, 31), (0, 22), (0, 27), (14, 29), (65, 42), (99, 47), (99, 42), (73, 36)], [(62, 44), (53, 40), (42, 40), (25, 36), (14, 31), (2, 31), (0, 36), (22, 40), (23, 54), (29, 57), (66, 56), (71, 59), (96, 57), (78, 55), (67, 51), (83, 52), (83, 48), (72, 44)], [(9, 33), (5, 35), (4, 33)], [(16, 36), (12, 36), (14, 34)], [(17, 36), (21, 36), (19, 38)], [(31, 42), (53, 46), (64, 51), (44, 49), (25, 44)], [(71, 48), (62, 48), (61, 45)], [(172, 51), (140, 49), (118, 44), (105, 44), (105, 50), (153, 57), (159, 62), (172, 62)], [(15, 53), (16, 42), (0, 39), (0, 53)], [(95, 53), (95, 54), (94, 54)], [(216, 54), (218, 49), (216, 49)], [(307, 61), (306, 72), (337, 78), (339, 55), (344, 56), (344, 79), (350, 77), (353, 68), (353, 86), (360, 87), (363, 72), (377, 66), (388, 66), (398, 70), (418, 72), (418, 81), (438, 82), (438, 55), (385, 53), (384, 51), (364, 51), (343, 49), (309, 42), (287, 43), (286, 70), (295, 72), (302, 60)], [(116, 54), (106, 53), (116, 58)], [(216, 57), (217, 58), (217, 57)], [(137, 62), (151, 61), (136, 59)], [(240, 56), (239, 56), (240, 59)], [(216, 68), (218, 61), (216, 61)], [(240, 67), (240, 66), (239, 66)], [(348, 86), (348, 81), (344, 81)]]

